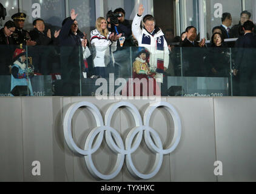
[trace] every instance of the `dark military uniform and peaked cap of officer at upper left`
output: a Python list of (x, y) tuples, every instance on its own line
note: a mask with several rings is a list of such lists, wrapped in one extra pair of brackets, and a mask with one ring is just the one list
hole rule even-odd
[[(27, 15), (25, 13), (15, 13), (12, 16), (13, 21), (15, 20), (24, 20)], [(26, 41), (30, 39), (29, 32), (27, 30), (23, 30), (21, 28), (16, 27), (15, 32), (12, 34), (12, 38), (17, 45), (26, 45)]]

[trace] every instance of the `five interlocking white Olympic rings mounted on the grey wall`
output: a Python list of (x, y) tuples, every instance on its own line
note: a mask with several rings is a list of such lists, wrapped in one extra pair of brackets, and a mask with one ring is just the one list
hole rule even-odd
[[(84, 150), (76, 146), (72, 137), (71, 130), (72, 117), (76, 110), (80, 107), (87, 107), (90, 110), (90, 112), (92, 112), (93, 116), (95, 117), (97, 126), (89, 133), (86, 139)], [(130, 113), (132, 113), (132, 116), (135, 119), (136, 124), (136, 127), (130, 130), (130, 132), (128, 133), (125, 144), (120, 134), (115, 129), (110, 127), (110, 121), (112, 119), (113, 113), (120, 107), (127, 107)], [(153, 111), (158, 107), (164, 107), (164, 109), (166, 109), (170, 113), (174, 122), (173, 140), (172, 142), (170, 142), (170, 145), (167, 147), (167, 149), (163, 149), (163, 144), (161, 142), (160, 136), (155, 130), (153, 130), (149, 126), (150, 117)], [(109, 180), (115, 178), (115, 176), (117, 176), (118, 173), (120, 173), (124, 164), (124, 160), (126, 160), (127, 169), (134, 178), (150, 179), (153, 176), (155, 176), (160, 170), (160, 167), (163, 162), (163, 155), (173, 152), (173, 150), (175, 150), (175, 148), (178, 146), (178, 143), (180, 142), (181, 138), (180, 116), (178, 115), (177, 110), (175, 110), (175, 108), (167, 102), (154, 102), (150, 104), (150, 106), (147, 108), (144, 114), (144, 125), (138, 109), (130, 102), (117, 102), (115, 104), (112, 104), (106, 112), (104, 121), (105, 125), (103, 122), (103, 117), (101, 116), (101, 113), (99, 112), (98, 108), (94, 104), (84, 101), (72, 104), (69, 107), (69, 109), (67, 109), (63, 121), (64, 136), (67, 145), (69, 146), (70, 150), (72, 150), (74, 153), (84, 156), (86, 166), (95, 179)], [(107, 142), (107, 146), (109, 146), (109, 148), (117, 155), (115, 167), (113, 167), (109, 175), (104, 175), (100, 173), (96, 169), (92, 161), (92, 154), (99, 149), (99, 146), (101, 146), (101, 143), (103, 142), (104, 136)], [(132, 161), (132, 153), (135, 152), (136, 149), (138, 149), (143, 137), (147, 147), (149, 147), (149, 149), (156, 154), (155, 164), (153, 165), (153, 169), (148, 174), (139, 172)], [(133, 142), (134, 138), (135, 141)], [(94, 140), (95, 143), (93, 146)]]

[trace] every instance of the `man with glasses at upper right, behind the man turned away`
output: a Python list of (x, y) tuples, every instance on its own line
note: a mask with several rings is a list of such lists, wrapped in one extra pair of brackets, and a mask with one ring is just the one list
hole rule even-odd
[[(244, 35), (244, 31), (243, 31), (243, 24), (244, 22), (248, 21), (251, 18), (251, 13), (244, 10), (243, 12), (241, 12), (241, 18), (239, 21), (239, 24), (234, 25), (231, 28), (231, 35), (233, 38), (239, 38), (240, 36)], [(256, 33), (256, 26), (254, 25), (254, 33)]]

